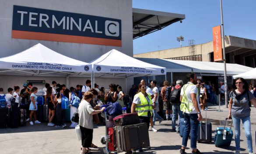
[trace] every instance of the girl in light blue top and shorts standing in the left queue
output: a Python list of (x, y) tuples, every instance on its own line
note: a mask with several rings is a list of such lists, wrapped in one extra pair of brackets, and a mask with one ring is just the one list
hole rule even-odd
[(34, 123), (32, 122), (32, 116), (34, 116), (34, 119), (35, 119), (35, 123), (41, 123), (37, 120), (36, 118), (36, 111), (37, 111), (37, 96), (35, 95), (35, 93), (37, 92), (37, 88), (36, 87), (33, 87), (32, 90), (31, 90), (31, 95), (30, 95), (30, 99), (31, 99), (31, 103), (29, 105), (29, 110), (30, 110), (30, 114), (29, 114), (29, 119), (30, 119), (30, 122), (29, 124), (30, 125), (34, 125)]

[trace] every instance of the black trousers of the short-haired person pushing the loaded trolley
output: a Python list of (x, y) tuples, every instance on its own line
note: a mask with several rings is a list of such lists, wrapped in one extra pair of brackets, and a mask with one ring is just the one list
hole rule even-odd
[(88, 129), (80, 126), (80, 130), (82, 134), (82, 146), (87, 148), (91, 147), (93, 129)]

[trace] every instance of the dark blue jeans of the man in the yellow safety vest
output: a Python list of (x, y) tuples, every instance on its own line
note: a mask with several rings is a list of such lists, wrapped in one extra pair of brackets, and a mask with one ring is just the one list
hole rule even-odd
[(197, 120), (197, 114), (187, 114), (183, 113), (184, 120), (187, 122), (185, 124), (185, 129), (182, 137), (182, 147), (186, 147), (189, 139), (189, 133), (191, 129), (190, 136), (190, 147), (196, 149), (197, 131), (199, 127), (199, 121)]

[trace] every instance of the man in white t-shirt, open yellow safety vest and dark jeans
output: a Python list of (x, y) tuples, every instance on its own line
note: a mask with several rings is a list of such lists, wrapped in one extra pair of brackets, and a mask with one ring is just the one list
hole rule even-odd
[(182, 147), (179, 152), (180, 154), (186, 154), (185, 148), (191, 129), (190, 147), (192, 149), (192, 154), (202, 154), (196, 148), (199, 121), (202, 121), (203, 119), (200, 111), (198, 88), (195, 85), (197, 81), (196, 75), (194, 73), (189, 73), (187, 75), (187, 81), (188, 83), (182, 87), (180, 92), (180, 110), (183, 112), (186, 124), (182, 137)]

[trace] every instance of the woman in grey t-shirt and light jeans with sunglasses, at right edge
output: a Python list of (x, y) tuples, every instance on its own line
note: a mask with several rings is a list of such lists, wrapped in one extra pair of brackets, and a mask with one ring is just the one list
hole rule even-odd
[(228, 105), (228, 118), (232, 117), (235, 129), (235, 154), (240, 154), (240, 121), (245, 128), (245, 136), (249, 154), (252, 153), (252, 134), (249, 101), (256, 107), (256, 98), (249, 91), (249, 85), (243, 78), (237, 78), (233, 82)]

